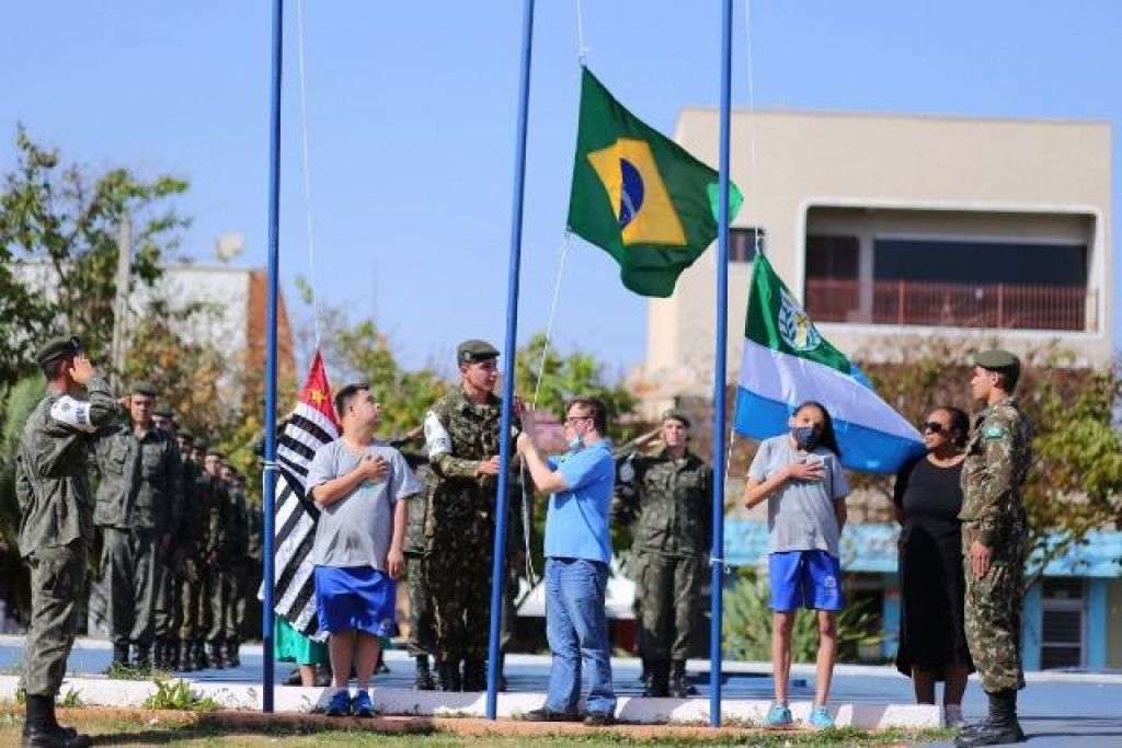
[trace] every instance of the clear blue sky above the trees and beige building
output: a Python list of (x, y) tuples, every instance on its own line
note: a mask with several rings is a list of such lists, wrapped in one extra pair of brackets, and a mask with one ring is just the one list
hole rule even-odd
[[(318, 281), (374, 315), (411, 366), (503, 340), (522, 3), (307, 0)], [(589, 65), (651, 124), (716, 105), (720, 3), (585, 1)], [(296, 2), (286, 3), (282, 277), (309, 275)], [(734, 105), (748, 103), (737, 2)], [(756, 108), (1122, 122), (1122, 2), (756, 0)], [(544, 329), (568, 206), (579, 74), (572, 0), (539, 0), (519, 339)], [(15, 123), (92, 167), (190, 179), (183, 253), (246, 237), (266, 261), (270, 3), (21, 2), (0, 25), (0, 167)], [(735, 157), (735, 155), (734, 155)], [(1122, 158), (1115, 147), (1115, 215)], [(1116, 244), (1116, 240), (1115, 240)], [(772, 248), (772, 251), (784, 251)], [(1115, 267), (1115, 278), (1119, 268)], [(1115, 313), (1115, 326), (1120, 315)], [(735, 321), (734, 321), (735, 324)], [(554, 333), (623, 372), (646, 304), (574, 242)]]

